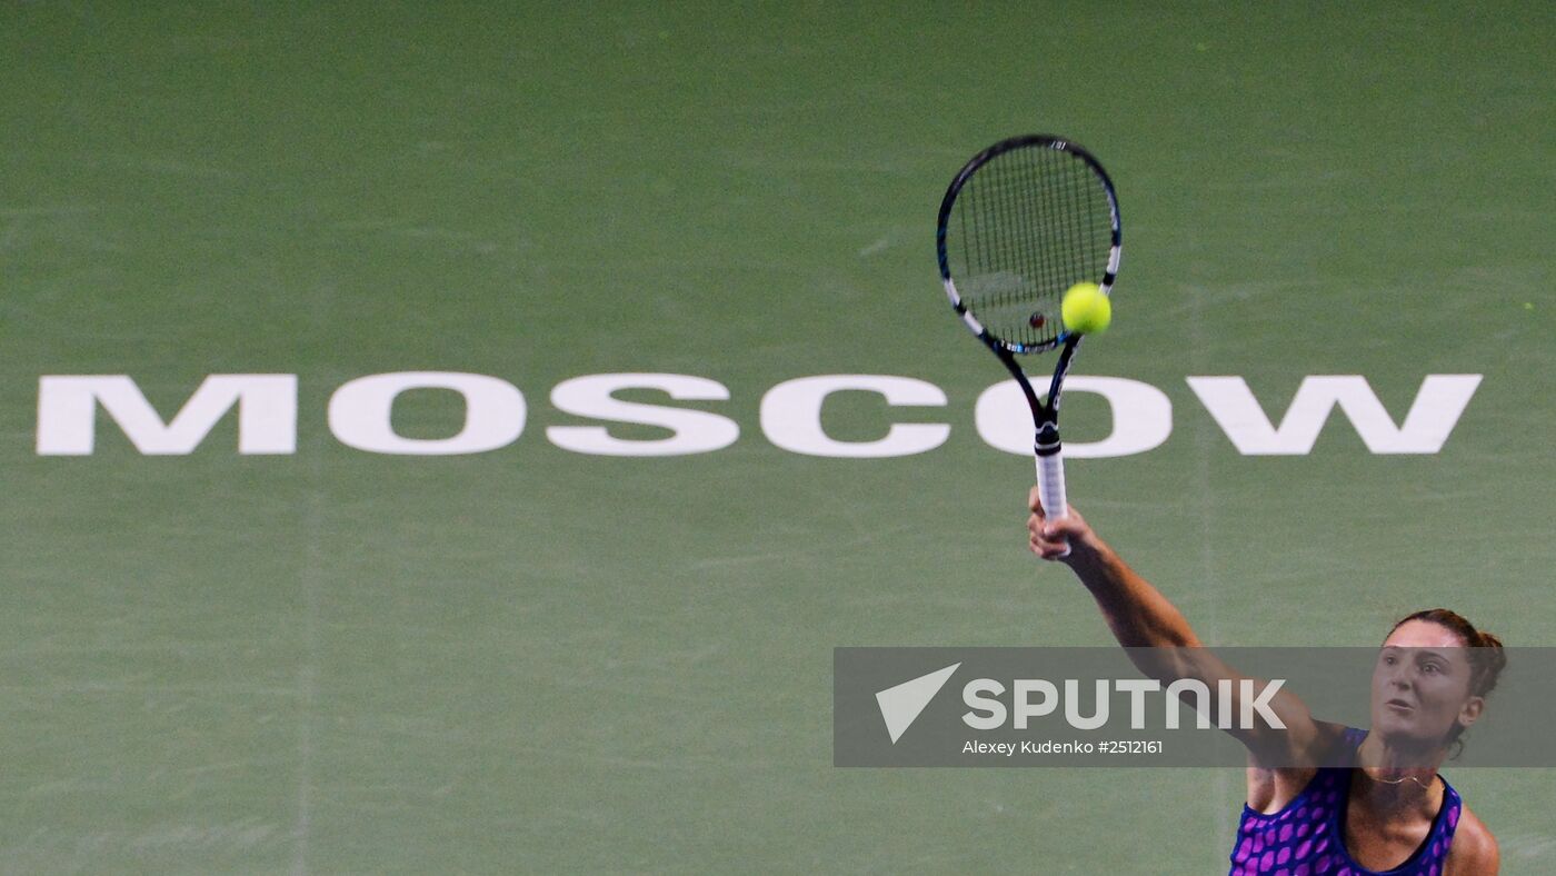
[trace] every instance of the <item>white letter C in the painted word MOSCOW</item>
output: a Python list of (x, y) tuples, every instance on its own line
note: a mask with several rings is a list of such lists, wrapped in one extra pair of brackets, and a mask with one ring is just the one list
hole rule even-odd
[(879, 440), (845, 442), (822, 431), (822, 405), (834, 392), (874, 392), (887, 405), (941, 406), (946, 394), (923, 380), (892, 375), (843, 373), (801, 377), (767, 391), (762, 397), (761, 425), (773, 445), (808, 456), (884, 457), (910, 456), (946, 442), (951, 426), (943, 423), (892, 423)]

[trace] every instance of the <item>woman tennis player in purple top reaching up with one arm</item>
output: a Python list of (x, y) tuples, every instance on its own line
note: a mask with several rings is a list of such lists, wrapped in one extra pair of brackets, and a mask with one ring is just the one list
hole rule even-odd
[[(1211, 689), (1220, 678), (1239, 678), (1207, 649), (1195, 650), (1200, 639), (1178, 608), (1074, 509), (1047, 520), (1036, 489), (1029, 503), (1032, 551), (1080, 577), (1119, 644), (1165, 649), (1131, 652), (1142, 671), (1164, 685), (1193, 677)], [(1480, 717), (1505, 663), (1497, 636), (1433, 608), (1399, 621), (1383, 641), (1371, 731), (1316, 720), (1293, 694), (1277, 694), (1271, 705), (1287, 730), (1232, 731), (1248, 748), (1248, 803), (1232, 876), (1497, 873), (1497, 840), (1438, 767)], [(1355, 766), (1282, 766), (1293, 762)]]

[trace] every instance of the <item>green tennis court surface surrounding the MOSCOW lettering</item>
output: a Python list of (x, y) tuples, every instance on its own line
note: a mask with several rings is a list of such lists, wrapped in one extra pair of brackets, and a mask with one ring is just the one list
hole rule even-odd
[[(1237, 770), (843, 770), (836, 646), (1108, 644), (1025, 552), (1004, 372), (934, 265), (951, 174), (1074, 137), (1119, 185), (1114, 328), (1161, 447), (1071, 498), (1209, 643), (1371, 644), (1446, 604), (1556, 644), (1556, 81), (1545, 5), (65, 3), (0, 6), (0, 871), (1225, 871)], [(1542, 72), (1544, 70), (1544, 72)], [(1036, 363), (1033, 369), (1044, 367)], [(490, 375), (523, 434), (370, 453), (331, 394)], [(717, 381), (710, 453), (574, 453), (552, 387)], [(103, 409), (37, 450), (40, 378), (297, 375), (294, 453), (227, 414), (143, 454)], [(843, 459), (766, 437), (839, 394)], [(1396, 423), (1483, 375), (1438, 453), (1243, 454), (1363, 375)], [(1067, 437), (1108, 434), (1077, 394)], [(400, 436), (461, 431), (411, 391)], [(652, 440), (654, 426), (612, 426)], [(1494, 706), (1492, 706), (1494, 708)], [(1556, 870), (1551, 772), (1447, 772), (1505, 873)]]

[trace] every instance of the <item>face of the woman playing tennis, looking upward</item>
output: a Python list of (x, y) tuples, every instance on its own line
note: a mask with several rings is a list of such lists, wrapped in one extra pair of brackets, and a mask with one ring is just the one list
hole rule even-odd
[(1372, 669), (1372, 731), (1419, 747), (1441, 747), (1455, 725), (1480, 717), (1469, 692), (1470, 663), (1463, 639), (1432, 621), (1410, 621), (1390, 633)]

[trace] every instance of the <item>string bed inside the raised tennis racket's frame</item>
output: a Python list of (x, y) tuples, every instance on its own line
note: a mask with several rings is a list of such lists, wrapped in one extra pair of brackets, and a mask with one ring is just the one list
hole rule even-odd
[(1114, 244), (1113, 208), (1095, 171), (1053, 148), (996, 156), (955, 202), (952, 274), (968, 311), (996, 338), (1022, 347), (1060, 335), (1060, 300), (1100, 283)]

